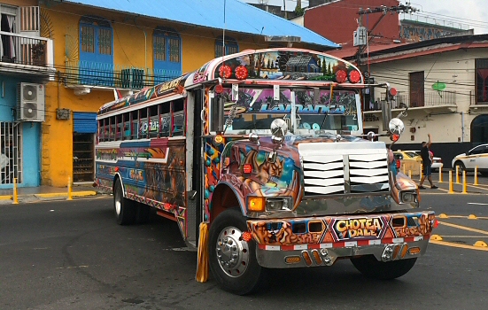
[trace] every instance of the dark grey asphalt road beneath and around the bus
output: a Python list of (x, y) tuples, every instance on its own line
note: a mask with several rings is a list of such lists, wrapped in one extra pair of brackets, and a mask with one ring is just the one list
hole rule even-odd
[(277, 270), (267, 291), (246, 297), (195, 281), (197, 253), (173, 221), (117, 225), (112, 198), (0, 205), (0, 308), (483, 309), (488, 247), (473, 244), (488, 243), (486, 204), (481, 194), (422, 192), (422, 208), (446, 216), (442, 240), (397, 280), (365, 278), (342, 260)]

